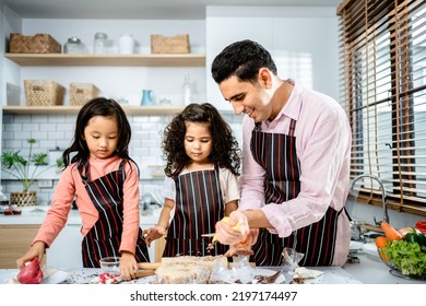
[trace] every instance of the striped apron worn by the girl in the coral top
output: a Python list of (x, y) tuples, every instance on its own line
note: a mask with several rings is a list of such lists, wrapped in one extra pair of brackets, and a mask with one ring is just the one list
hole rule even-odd
[[(119, 248), (122, 234), (122, 184), (126, 179), (123, 170), (125, 161), (118, 170), (111, 172), (92, 181), (90, 179), (90, 165), (79, 164), (80, 176), (85, 185), (99, 217), (88, 231), (82, 242), (82, 257), (84, 268), (99, 268), (103, 257), (120, 257)], [(83, 168), (85, 176), (83, 175)], [(135, 247), (137, 262), (149, 262), (150, 257), (142, 229), (139, 228)]]

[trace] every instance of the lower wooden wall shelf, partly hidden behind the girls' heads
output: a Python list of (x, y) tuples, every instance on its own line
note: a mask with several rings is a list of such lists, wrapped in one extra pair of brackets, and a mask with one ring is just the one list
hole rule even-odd
[[(76, 115), (81, 106), (3, 106), (4, 114), (15, 115)], [(174, 115), (184, 106), (122, 106), (127, 115)]]

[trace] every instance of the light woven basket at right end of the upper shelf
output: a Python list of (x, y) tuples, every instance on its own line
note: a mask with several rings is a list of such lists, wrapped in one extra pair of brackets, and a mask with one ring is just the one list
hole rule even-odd
[(152, 54), (189, 54), (189, 35), (151, 35)]

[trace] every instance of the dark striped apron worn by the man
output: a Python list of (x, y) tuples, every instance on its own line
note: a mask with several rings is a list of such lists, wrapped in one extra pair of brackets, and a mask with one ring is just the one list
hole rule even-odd
[[(257, 122), (251, 137), (251, 154), (255, 161), (265, 169), (263, 181), (265, 204), (285, 203), (300, 192), (300, 165), (296, 153), (296, 121), (292, 120), (288, 134), (267, 133)], [(321, 178), (318, 178), (321, 179)], [(261, 228), (253, 245), (251, 260), (257, 266), (281, 266), (284, 247), (304, 254), (299, 266), (331, 266), (338, 229), (338, 216), (341, 213), (330, 208), (317, 223), (294, 231), (288, 237), (281, 238)]]

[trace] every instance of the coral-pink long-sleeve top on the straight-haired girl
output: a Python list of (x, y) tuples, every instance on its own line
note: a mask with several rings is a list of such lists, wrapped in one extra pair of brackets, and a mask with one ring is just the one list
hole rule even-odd
[[(117, 170), (122, 158), (90, 158), (91, 180)], [(134, 254), (140, 223), (139, 211), (139, 176), (135, 164), (132, 167), (125, 163), (126, 180), (123, 183), (123, 226), (120, 251)], [(44, 242), (48, 247), (54, 243), (67, 223), (72, 201), (76, 198), (76, 207), (82, 219), (81, 234), (84, 237), (98, 220), (98, 212), (94, 207), (76, 168), (76, 164), (69, 165), (59, 179), (55, 189), (51, 207), (33, 240)]]

